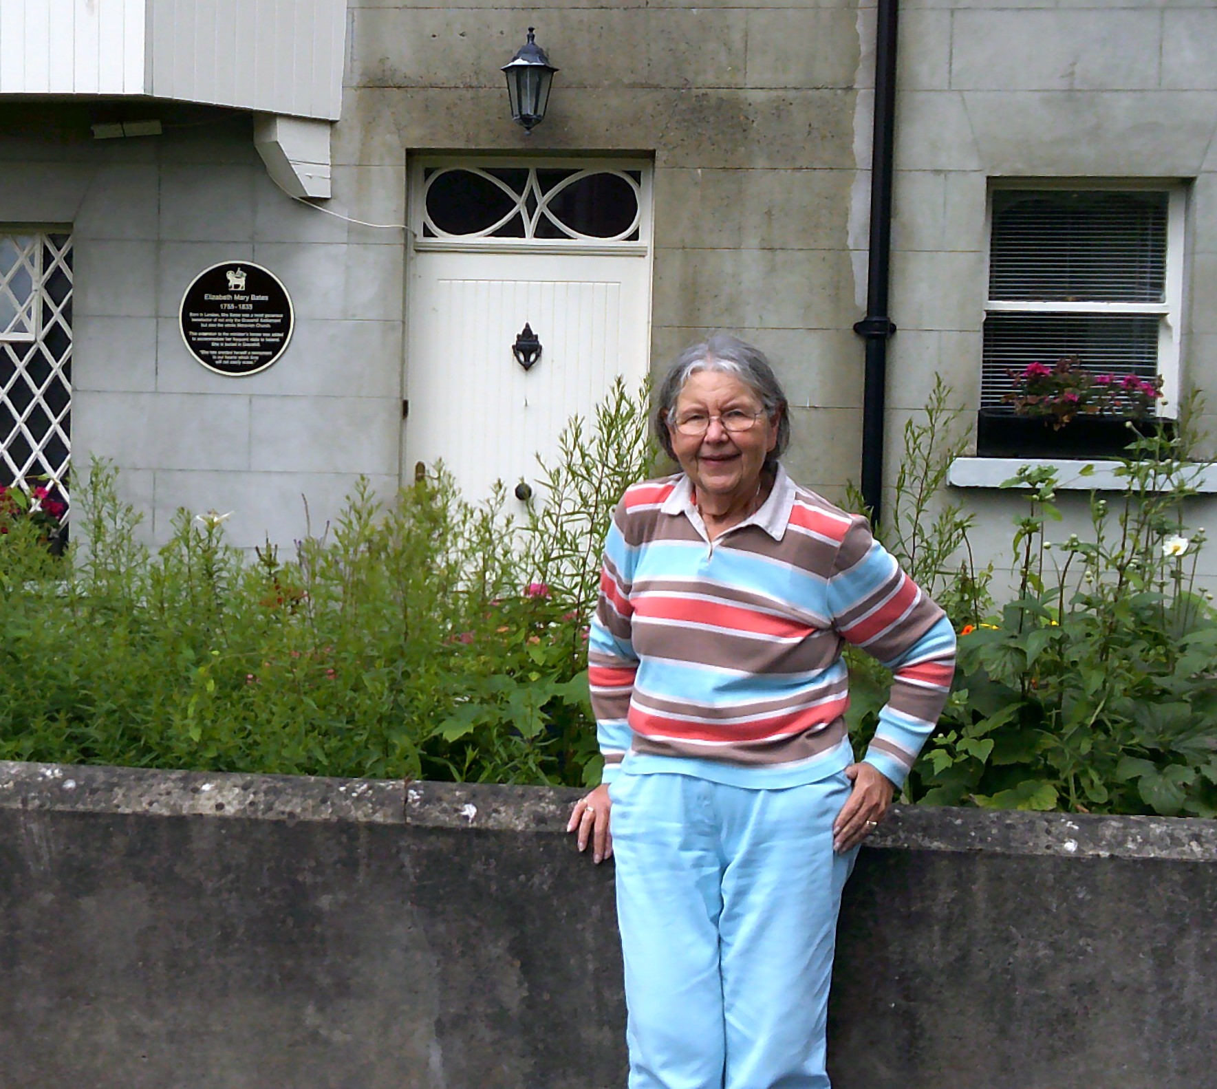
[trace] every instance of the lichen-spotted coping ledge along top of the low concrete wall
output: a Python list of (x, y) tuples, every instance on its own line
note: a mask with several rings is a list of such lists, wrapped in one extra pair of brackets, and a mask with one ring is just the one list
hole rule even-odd
[[(582, 791), (0, 760), (0, 807), (563, 832)], [(1217, 863), (1217, 820), (896, 805), (875, 849)]]

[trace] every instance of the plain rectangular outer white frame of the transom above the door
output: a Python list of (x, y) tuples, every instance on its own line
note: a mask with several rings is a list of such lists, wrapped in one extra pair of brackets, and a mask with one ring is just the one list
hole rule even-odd
[[(638, 170), (638, 241), (611, 238), (427, 238), (422, 234), (424, 170), (450, 167), (487, 167), (538, 170)], [(409, 169), (409, 219), (411, 247), (417, 253), (613, 253), (618, 257), (646, 257), (651, 252), (652, 163), (640, 158), (549, 158), (540, 156), (419, 155)]]

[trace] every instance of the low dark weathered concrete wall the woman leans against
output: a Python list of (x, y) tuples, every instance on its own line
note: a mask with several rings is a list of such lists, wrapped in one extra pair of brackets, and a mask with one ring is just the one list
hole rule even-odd
[[(622, 1089), (574, 792), (0, 763), (5, 1089)], [(835, 1089), (1215, 1084), (1217, 823), (898, 809)]]

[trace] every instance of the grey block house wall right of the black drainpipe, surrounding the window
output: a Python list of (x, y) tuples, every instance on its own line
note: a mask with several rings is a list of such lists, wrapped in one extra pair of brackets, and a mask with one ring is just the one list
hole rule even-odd
[[(1206, 57), (1217, 13), (1191, 0), (980, 0), (901, 5), (888, 482), (899, 428), (925, 403), (935, 372), (970, 415), (980, 402), (989, 179), (1185, 180), (1188, 241), (1182, 370), (1208, 392), (1217, 453), (1217, 80)], [(1213, 326), (1217, 329), (1217, 326)], [(1011, 472), (1009, 476), (1013, 476)], [(1010, 577), (1011, 520), (1021, 500), (957, 492), (977, 515), (974, 544)], [(1062, 496), (1061, 538), (1084, 516), (1084, 495)], [(1191, 524), (1217, 522), (1217, 501), (1191, 505)], [(1201, 556), (1217, 580), (1217, 550)]]

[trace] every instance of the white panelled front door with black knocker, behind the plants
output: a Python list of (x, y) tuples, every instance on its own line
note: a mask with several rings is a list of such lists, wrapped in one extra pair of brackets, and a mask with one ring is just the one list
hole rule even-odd
[[(636, 241), (484, 241), (411, 254), (403, 476), (442, 460), (467, 499), (498, 479), (516, 506), (568, 420), (590, 419), (618, 375), (635, 388), (646, 374), (650, 262)], [(542, 346), (528, 370), (512, 353), (526, 325)]]

